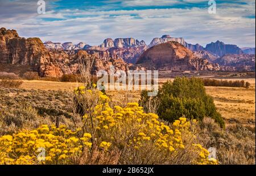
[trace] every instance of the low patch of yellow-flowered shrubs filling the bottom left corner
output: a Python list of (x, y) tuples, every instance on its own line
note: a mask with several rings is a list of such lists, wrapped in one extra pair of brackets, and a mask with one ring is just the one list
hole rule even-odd
[[(84, 149), (92, 147), (90, 134), (77, 138), (60, 126), (43, 125), (36, 130), (23, 130), (0, 138), (0, 164), (72, 164)], [(45, 152), (45, 157), (40, 155)]]

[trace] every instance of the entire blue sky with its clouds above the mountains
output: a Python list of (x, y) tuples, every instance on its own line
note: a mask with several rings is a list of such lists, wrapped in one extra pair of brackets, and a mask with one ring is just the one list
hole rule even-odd
[(255, 0), (216, 0), (209, 14), (203, 0), (0, 0), (0, 27), (43, 42), (82, 41), (100, 45), (105, 38), (133, 37), (150, 44), (155, 37), (183, 37), (205, 46), (225, 44), (255, 47)]

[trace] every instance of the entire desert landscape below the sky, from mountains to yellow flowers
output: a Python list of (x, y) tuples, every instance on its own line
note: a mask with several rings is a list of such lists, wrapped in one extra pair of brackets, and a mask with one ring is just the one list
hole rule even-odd
[[(255, 164), (255, 48), (169, 35), (61, 44), (1, 28), (0, 63), (0, 164)], [(158, 96), (98, 91), (110, 66), (158, 70)]]

